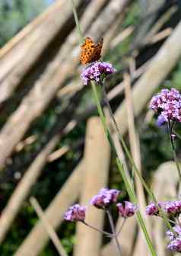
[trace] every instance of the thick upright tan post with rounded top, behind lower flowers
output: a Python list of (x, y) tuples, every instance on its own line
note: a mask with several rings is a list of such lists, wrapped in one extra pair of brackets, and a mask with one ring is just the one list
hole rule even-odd
[[(98, 117), (92, 117), (87, 123), (87, 132), (84, 150), (84, 183), (81, 190), (81, 205), (94, 197), (102, 187), (106, 187), (110, 166), (110, 145), (103, 131), (102, 123)], [(86, 222), (97, 229), (103, 229), (103, 211), (91, 206), (87, 210)], [(99, 256), (102, 234), (95, 230), (77, 224), (77, 242), (75, 256)]]

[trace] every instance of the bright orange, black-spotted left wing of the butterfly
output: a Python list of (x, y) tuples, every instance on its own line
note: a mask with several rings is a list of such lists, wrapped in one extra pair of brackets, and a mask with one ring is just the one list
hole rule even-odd
[(90, 37), (86, 37), (84, 44), (81, 45), (81, 56), (80, 61), (82, 64), (92, 62), (92, 56), (94, 55), (94, 42)]

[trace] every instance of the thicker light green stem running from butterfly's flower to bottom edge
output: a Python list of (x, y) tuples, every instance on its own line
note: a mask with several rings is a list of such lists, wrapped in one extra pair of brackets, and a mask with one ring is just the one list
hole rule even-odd
[[(113, 142), (112, 136), (110, 135), (110, 131), (109, 131), (109, 129), (106, 126), (106, 118), (104, 117), (103, 110), (102, 110), (102, 107), (100, 105), (100, 100), (99, 100), (99, 97), (98, 97), (98, 94), (97, 94), (96, 82), (91, 82), (91, 86), (92, 86), (92, 89), (93, 89), (93, 92), (94, 92), (94, 98), (95, 98), (95, 101), (96, 101), (96, 104), (97, 104), (97, 110), (98, 110), (98, 113), (100, 115), (100, 120), (103, 123), (103, 129), (104, 129), (104, 131), (106, 133), (107, 139), (110, 142), (110, 146), (112, 147), (113, 152), (116, 155), (116, 164), (117, 164), (117, 166), (119, 168), (119, 171), (120, 171), (120, 173), (122, 175), (122, 179), (123, 179), (123, 181), (125, 183), (125, 188), (126, 188), (128, 194), (129, 194), (129, 197), (130, 197), (130, 200), (132, 201), (132, 203), (137, 203), (137, 198), (135, 196), (135, 192), (132, 189), (132, 185), (129, 183), (128, 178), (125, 175), (125, 171), (123, 170), (122, 162), (120, 162), (119, 157), (117, 155), (116, 148), (114, 146), (114, 142)], [(146, 228), (146, 226), (144, 224), (144, 219), (142, 218), (141, 213), (139, 212), (139, 210), (137, 211), (136, 216), (137, 216), (137, 219), (138, 219), (138, 223), (141, 226), (142, 231), (144, 232), (144, 237), (145, 237), (145, 239), (146, 239), (146, 241), (148, 243), (148, 248), (151, 251), (151, 255), (156, 256), (157, 253), (156, 253), (156, 251), (154, 249), (154, 246), (153, 246), (153, 244), (151, 242), (151, 238), (150, 238), (150, 236), (148, 234), (148, 231), (147, 231), (147, 228)]]

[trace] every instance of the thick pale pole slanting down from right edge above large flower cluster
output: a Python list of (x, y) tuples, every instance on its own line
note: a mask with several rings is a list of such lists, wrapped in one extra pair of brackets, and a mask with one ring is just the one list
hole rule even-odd
[[(148, 69), (132, 90), (133, 108), (135, 116), (141, 113), (142, 108), (147, 104), (158, 85), (167, 77), (171, 69), (176, 65), (181, 55), (181, 22), (177, 25), (173, 34), (166, 40), (154, 58), (151, 60)], [(174, 47), (173, 47), (174, 45)], [(154, 78), (154, 79), (153, 79)], [(144, 97), (142, 95), (144, 94)], [(122, 133), (127, 129), (127, 114), (125, 101), (116, 110), (116, 122), (119, 124)]]

